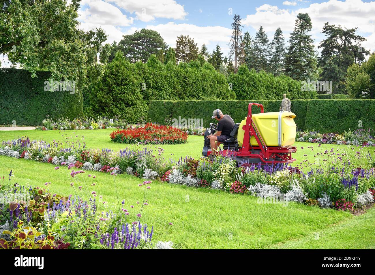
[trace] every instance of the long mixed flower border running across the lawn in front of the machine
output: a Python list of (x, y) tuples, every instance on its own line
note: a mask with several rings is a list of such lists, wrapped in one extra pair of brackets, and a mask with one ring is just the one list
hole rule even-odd
[[(222, 156), (212, 160), (186, 157), (174, 162), (163, 158), (160, 147), (157, 152), (144, 148), (137, 151), (124, 149), (116, 153), (111, 149), (63, 148), (62, 143), (48, 144), (28, 138), (2, 142), (0, 155), (68, 166), (74, 170), (96, 170), (112, 175), (127, 173), (171, 184), (252, 194), (280, 203), (293, 201), (351, 210), (374, 202), (374, 152), (366, 152), (365, 146), (332, 148), (329, 151), (323, 149), (321, 144), (316, 148), (309, 146), (301, 149), (314, 154), (315, 162), (321, 165), (309, 163), (307, 154), (300, 167), (277, 164), (261, 169), (260, 165), (247, 162), (237, 165), (231, 158)], [(347, 150), (351, 150), (352, 154)], [(308, 172), (303, 172), (302, 168)], [(83, 170), (72, 171), (71, 175), (75, 176)]]

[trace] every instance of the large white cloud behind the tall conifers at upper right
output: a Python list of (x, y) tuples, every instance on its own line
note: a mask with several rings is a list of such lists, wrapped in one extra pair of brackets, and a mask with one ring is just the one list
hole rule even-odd
[(299, 12), (309, 13), (313, 26), (313, 38), (319, 38), (319, 41), (323, 38), (320, 33), (324, 23), (329, 22), (329, 24), (340, 24), (346, 28), (358, 27), (358, 31), (368, 38), (363, 45), (372, 50), (375, 49), (375, 1), (329, 0), (297, 10), (279, 9), (277, 6), (264, 4), (256, 9), (255, 14), (247, 15), (242, 23), (256, 30), (262, 25), (266, 32), (274, 32), (276, 28), (281, 27), (285, 36), (288, 37), (288, 33), (294, 29), (294, 22)]

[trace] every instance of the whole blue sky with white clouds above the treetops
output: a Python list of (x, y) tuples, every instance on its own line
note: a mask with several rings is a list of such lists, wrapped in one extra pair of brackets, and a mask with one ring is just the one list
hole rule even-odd
[(272, 40), (276, 28), (281, 27), (288, 40), (296, 15), (308, 12), (316, 46), (324, 39), (320, 33), (324, 23), (329, 22), (358, 27), (359, 33), (368, 38), (363, 46), (375, 50), (375, 1), (83, 0), (81, 4), (81, 27), (89, 30), (102, 26), (110, 35), (108, 42), (118, 41), (140, 28), (150, 28), (159, 31), (172, 47), (177, 36), (189, 34), (199, 47), (205, 43), (209, 51), (219, 43), (226, 55), (235, 13), (242, 18), (243, 32), (255, 36), (263, 25)]

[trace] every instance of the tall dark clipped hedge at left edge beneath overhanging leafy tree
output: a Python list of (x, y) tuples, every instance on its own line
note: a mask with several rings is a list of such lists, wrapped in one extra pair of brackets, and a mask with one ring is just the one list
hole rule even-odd
[(82, 116), (80, 93), (44, 91), (49, 72), (0, 68), (0, 125), (40, 125), (48, 115), (71, 120)]

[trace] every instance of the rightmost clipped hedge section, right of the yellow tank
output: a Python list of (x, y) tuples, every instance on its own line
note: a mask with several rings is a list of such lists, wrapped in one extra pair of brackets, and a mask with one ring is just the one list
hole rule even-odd
[(344, 130), (358, 128), (373, 129), (374, 114), (374, 99), (309, 100), (305, 128), (315, 129), (321, 133), (341, 133)]

